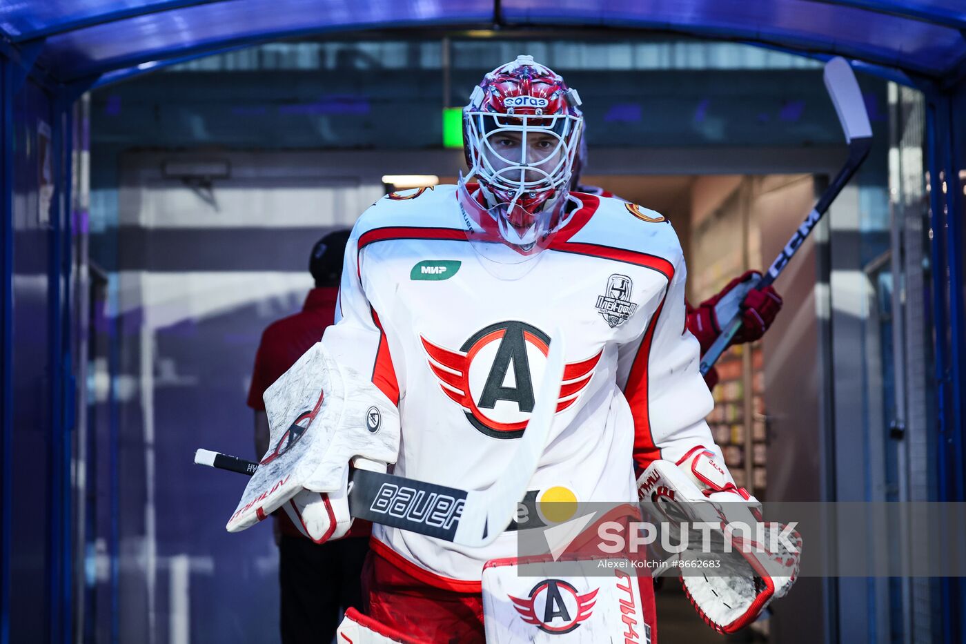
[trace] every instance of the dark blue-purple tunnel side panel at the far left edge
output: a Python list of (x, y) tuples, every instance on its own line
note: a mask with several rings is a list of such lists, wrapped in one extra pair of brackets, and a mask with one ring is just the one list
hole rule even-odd
[(39, 123), (52, 123), (48, 97), (26, 83), (14, 99), (14, 435), (10, 633), (43, 642), (49, 622), (52, 434), (49, 223), (41, 219)]

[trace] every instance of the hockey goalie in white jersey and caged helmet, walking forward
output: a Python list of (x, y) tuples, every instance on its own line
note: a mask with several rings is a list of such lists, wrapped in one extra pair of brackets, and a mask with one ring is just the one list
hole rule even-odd
[[(564, 489), (576, 502), (633, 503), (638, 482), (657, 476), (681, 499), (753, 502), (703, 420), (713, 401), (698, 371), (698, 341), (685, 327), (686, 269), (674, 229), (638, 205), (570, 190), (582, 126), (577, 91), (520, 56), (486, 74), (464, 109), (469, 174), (457, 186), (387, 194), (357, 220), (340, 319), (315, 354), (329, 375), (306, 388), (302, 406), (311, 411), (295, 434), (277, 431), (283, 421), (270, 418), (267, 458), (298, 451), (304, 466), (242, 504), (235, 529), (260, 518), (250, 511), (255, 501), (284, 488), (276, 507), (317, 542), (339, 538), (353, 522), (354, 458), (382, 471), (394, 461), (393, 474), (412, 480), (491, 488), (525, 433), (554, 335), (565, 347), (563, 378), (526, 497)], [(299, 382), (311, 381), (307, 363), (299, 364)], [(295, 374), (266, 394), (270, 415), (268, 398), (286, 378)], [(329, 395), (327, 386), (338, 391)], [(349, 414), (327, 407), (338, 396), (354, 414), (370, 410), (368, 427), (333, 429)], [(492, 634), (496, 622), (520, 620), (506, 641), (557, 632), (623, 641), (620, 611), (589, 626), (588, 604), (613, 597), (633, 604), (623, 614), (639, 637), (627, 641), (657, 641), (647, 575), (615, 578), (600, 595), (581, 579), (531, 581), (532, 591), (513, 590), (519, 601), (500, 600), (510, 582), (496, 569), (512, 570), (517, 554), (517, 533), (502, 529), (473, 547), (374, 525), (362, 580), (368, 610), (347, 617), (345, 640), (482, 642), (489, 632), (502, 641)], [(701, 617), (730, 631), (787, 591), (796, 569), (791, 557), (787, 574), (772, 578), (743, 557), (726, 583), (686, 584)], [(496, 581), (484, 588), (487, 578)], [(541, 612), (530, 617), (534, 602)]]

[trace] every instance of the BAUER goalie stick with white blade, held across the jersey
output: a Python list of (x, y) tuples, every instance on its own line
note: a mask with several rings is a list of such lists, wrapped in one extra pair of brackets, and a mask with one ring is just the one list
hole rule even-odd
[[(488, 489), (468, 491), (356, 469), (349, 511), (355, 518), (447, 542), (474, 547), (493, 542), (514, 518), (550, 438), (563, 381), (563, 354), (562, 334), (557, 329), (524, 436), (503, 473)], [(258, 463), (210, 450), (195, 452), (194, 462), (248, 476), (258, 469)]]

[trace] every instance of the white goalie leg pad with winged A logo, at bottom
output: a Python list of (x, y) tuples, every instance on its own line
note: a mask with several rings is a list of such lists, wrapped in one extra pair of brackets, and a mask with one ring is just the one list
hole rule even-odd
[[(587, 560), (601, 576), (546, 575), (520, 571), (517, 558), (483, 567), (483, 624), (487, 644), (516, 642), (639, 642), (656, 640), (644, 618), (641, 581), (624, 559)], [(556, 564), (559, 566), (559, 564)], [(600, 568), (598, 568), (600, 566)], [(643, 579), (650, 584), (651, 578)]]

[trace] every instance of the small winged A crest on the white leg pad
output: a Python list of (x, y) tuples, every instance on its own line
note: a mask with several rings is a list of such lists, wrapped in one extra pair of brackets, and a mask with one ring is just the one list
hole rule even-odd
[(590, 617), (599, 588), (580, 594), (562, 579), (544, 579), (521, 599), (507, 595), (526, 624), (561, 635), (581, 626)]

